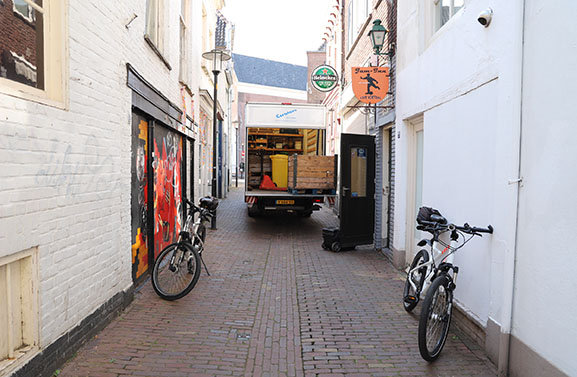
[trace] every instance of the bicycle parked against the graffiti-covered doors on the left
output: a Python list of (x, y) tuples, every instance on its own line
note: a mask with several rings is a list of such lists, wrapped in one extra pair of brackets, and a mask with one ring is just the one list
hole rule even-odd
[[(198, 282), (204, 240), (205, 224), (214, 216), (218, 200), (212, 197), (200, 199), (200, 206), (186, 199), (187, 216), (178, 241), (165, 247), (152, 268), (152, 287), (165, 300), (177, 300), (186, 296)], [(195, 214), (198, 217), (195, 221)]]

